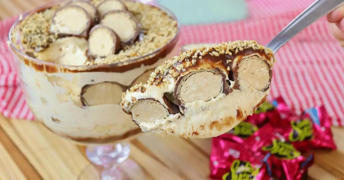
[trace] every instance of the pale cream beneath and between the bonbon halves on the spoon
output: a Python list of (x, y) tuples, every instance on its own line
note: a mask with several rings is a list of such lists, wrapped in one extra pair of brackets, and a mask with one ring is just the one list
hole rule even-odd
[[(166, 85), (165, 85), (166, 84)], [(174, 82), (166, 82), (163, 85), (143, 85), (146, 91), (139, 91), (126, 94), (124, 97), (128, 102), (134, 99), (155, 99), (165, 108), (169, 108), (164, 103), (164, 94), (174, 90)], [(209, 135), (224, 134), (239, 124), (244, 118), (252, 115), (257, 104), (262, 103), (267, 92), (257, 91), (247, 82), (241, 82), (241, 90), (234, 89), (229, 95), (219, 94), (209, 101), (196, 100), (185, 103), (184, 113), (170, 114), (163, 119), (140, 122), (140, 127), (144, 132), (157, 134), (177, 135), (186, 138), (209, 138)], [(147, 110), (148, 112), (149, 109)], [(153, 113), (153, 112), (152, 112)], [(207, 118), (206, 122), (201, 119)], [(228, 117), (227, 119), (225, 119)], [(222, 123), (219, 122), (221, 120)], [(230, 124), (230, 126), (225, 125)], [(190, 133), (189, 133), (190, 132)]]

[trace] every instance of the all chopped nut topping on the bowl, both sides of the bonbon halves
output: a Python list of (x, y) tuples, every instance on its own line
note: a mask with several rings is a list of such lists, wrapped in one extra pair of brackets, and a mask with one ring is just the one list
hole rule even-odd
[[(97, 6), (103, 0), (91, 0), (90, 3)], [(84, 65), (111, 64), (128, 61), (137, 57), (142, 57), (168, 44), (178, 32), (178, 24), (172, 16), (165, 11), (143, 4), (139, 1), (124, 0), (127, 9), (131, 12), (140, 24), (140, 40), (122, 47), (115, 55), (105, 58), (99, 57), (89, 60)], [(52, 17), (60, 5), (55, 5), (50, 9), (33, 13), (15, 27), (12, 38), (17, 32), (21, 32), (21, 38), (28, 51), (42, 51), (53, 43), (58, 36), (49, 31)]]

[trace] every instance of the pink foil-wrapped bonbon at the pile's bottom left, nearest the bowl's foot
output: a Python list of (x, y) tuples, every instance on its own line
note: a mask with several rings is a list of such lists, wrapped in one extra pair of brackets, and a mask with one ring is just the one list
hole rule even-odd
[(209, 176), (215, 180), (272, 180), (269, 159), (238, 143), (214, 137)]

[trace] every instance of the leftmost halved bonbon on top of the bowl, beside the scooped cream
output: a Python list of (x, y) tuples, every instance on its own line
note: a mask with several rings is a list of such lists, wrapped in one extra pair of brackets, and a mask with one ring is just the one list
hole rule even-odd
[(93, 22), (84, 8), (77, 5), (66, 5), (56, 10), (50, 31), (59, 36), (88, 37)]

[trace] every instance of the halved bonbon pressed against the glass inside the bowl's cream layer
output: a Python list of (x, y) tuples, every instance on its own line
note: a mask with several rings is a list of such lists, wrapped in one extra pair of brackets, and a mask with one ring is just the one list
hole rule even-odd
[(81, 89), (80, 100), (84, 106), (119, 104), (125, 87), (117, 82), (87, 84)]

